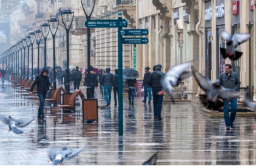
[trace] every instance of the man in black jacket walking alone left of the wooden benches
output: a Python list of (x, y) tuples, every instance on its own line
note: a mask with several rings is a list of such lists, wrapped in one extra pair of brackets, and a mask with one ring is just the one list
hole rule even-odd
[(44, 100), (45, 100), (46, 93), (48, 92), (50, 87), (49, 77), (47, 76), (47, 74), (48, 74), (48, 70), (44, 68), (41, 74), (39, 76), (36, 76), (36, 79), (29, 90), (29, 94), (32, 94), (35, 85), (37, 86), (36, 87), (37, 95), (40, 99), (40, 106), (39, 106), (38, 115), (37, 115), (38, 118), (44, 117)]

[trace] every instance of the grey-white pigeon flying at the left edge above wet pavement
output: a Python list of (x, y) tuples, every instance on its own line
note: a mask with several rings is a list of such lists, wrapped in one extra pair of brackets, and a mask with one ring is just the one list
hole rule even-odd
[(6, 116), (0, 114), (0, 119), (5, 124), (9, 125), (9, 128), (10, 128), (9, 132), (12, 131), (14, 133), (21, 134), (21, 133), (23, 133), (23, 131), (19, 130), (17, 127), (25, 127), (29, 123), (31, 123), (35, 118), (16, 120), (16, 119), (12, 118), (11, 116), (6, 117)]

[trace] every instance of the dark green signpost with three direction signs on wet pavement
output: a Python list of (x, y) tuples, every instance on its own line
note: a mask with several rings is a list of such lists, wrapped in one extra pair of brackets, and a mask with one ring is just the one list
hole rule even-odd
[[(123, 44), (147, 44), (148, 38), (122, 36), (147, 36), (147, 29), (122, 29), (127, 27), (127, 19), (118, 13), (117, 20), (86, 20), (87, 28), (118, 28), (118, 134), (123, 136)], [(136, 51), (133, 51), (136, 53)]]

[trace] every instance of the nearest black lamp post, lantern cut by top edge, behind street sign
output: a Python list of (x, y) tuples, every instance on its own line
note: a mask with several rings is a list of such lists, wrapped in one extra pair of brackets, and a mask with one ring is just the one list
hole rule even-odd
[[(92, 11), (94, 9), (95, 6), (95, 0), (81, 0), (81, 4), (86, 16), (86, 20), (90, 20), (91, 16), (92, 16)], [(89, 15), (88, 15), (88, 14)], [(91, 50), (91, 43), (90, 43), (90, 28), (87, 28), (87, 66), (88, 66), (88, 74), (87, 74), (87, 98), (91, 99), (92, 95), (91, 95), (91, 84), (90, 84), (90, 66), (91, 66), (91, 60), (90, 60), (90, 50)]]

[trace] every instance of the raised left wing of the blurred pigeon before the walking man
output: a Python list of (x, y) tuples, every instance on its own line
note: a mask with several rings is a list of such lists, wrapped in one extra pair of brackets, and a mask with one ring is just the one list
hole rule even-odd
[(211, 89), (212, 87), (212, 82), (206, 78), (205, 76), (203, 76), (202, 74), (200, 74), (198, 72), (198, 70), (192, 66), (192, 73), (196, 78), (196, 82), (199, 84), (199, 86), (204, 90), (204, 91), (208, 91)]

